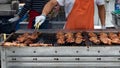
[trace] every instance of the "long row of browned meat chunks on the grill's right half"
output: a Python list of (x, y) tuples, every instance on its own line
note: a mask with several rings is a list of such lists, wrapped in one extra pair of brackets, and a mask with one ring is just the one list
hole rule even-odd
[(94, 32), (77, 32), (77, 33), (63, 33), (58, 32), (57, 35), (57, 43), (58, 44), (65, 44), (65, 43), (75, 43), (75, 44), (81, 44), (84, 41), (87, 41), (87, 39), (94, 43), (94, 44), (120, 44), (120, 33), (94, 33)]

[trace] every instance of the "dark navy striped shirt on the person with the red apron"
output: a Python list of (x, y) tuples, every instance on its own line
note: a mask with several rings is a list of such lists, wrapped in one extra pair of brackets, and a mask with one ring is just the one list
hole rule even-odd
[(42, 10), (48, 0), (26, 0), (22, 10), (18, 13), (20, 17), (24, 16), (29, 10), (35, 10), (38, 13), (42, 13)]

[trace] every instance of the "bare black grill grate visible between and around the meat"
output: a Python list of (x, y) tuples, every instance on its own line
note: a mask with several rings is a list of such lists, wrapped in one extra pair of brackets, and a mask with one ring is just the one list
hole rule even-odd
[[(97, 34), (97, 36), (99, 36), (100, 32), (94, 32), (94, 33)], [(17, 39), (19, 35), (22, 34), (23, 33), (11, 34), (7, 38), (6, 42), (13, 42)], [(82, 36), (85, 39), (85, 41), (82, 41), (82, 43), (80, 44), (76, 44), (76, 43), (57, 44), (56, 33), (41, 33), (40, 36), (34, 41), (34, 43), (52, 44), (53, 46), (110, 46), (108, 44), (103, 44), (102, 42), (100, 44), (94, 44), (89, 40), (88, 32), (82, 32)], [(112, 46), (119, 46), (119, 44), (112, 44)]]

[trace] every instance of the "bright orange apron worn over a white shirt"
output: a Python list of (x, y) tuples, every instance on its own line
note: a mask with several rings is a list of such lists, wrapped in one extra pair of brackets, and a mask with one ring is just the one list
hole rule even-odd
[(94, 29), (94, 0), (75, 0), (74, 6), (67, 18), (67, 30)]

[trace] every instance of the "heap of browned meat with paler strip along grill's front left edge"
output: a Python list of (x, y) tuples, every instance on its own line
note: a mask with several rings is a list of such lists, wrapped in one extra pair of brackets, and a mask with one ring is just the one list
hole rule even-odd
[(12, 42), (4, 42), (3, 46), (17, 46), (17, 47), (38, 47), (38, 46), (52, 46), (52, 44), (45, 44), (45, 43), (35, 43), (36, 39), (39, 38), (41, 35), (40, 32), (33, 32), (31, 33), (24, 33), (19, 35), (16, 40)]

